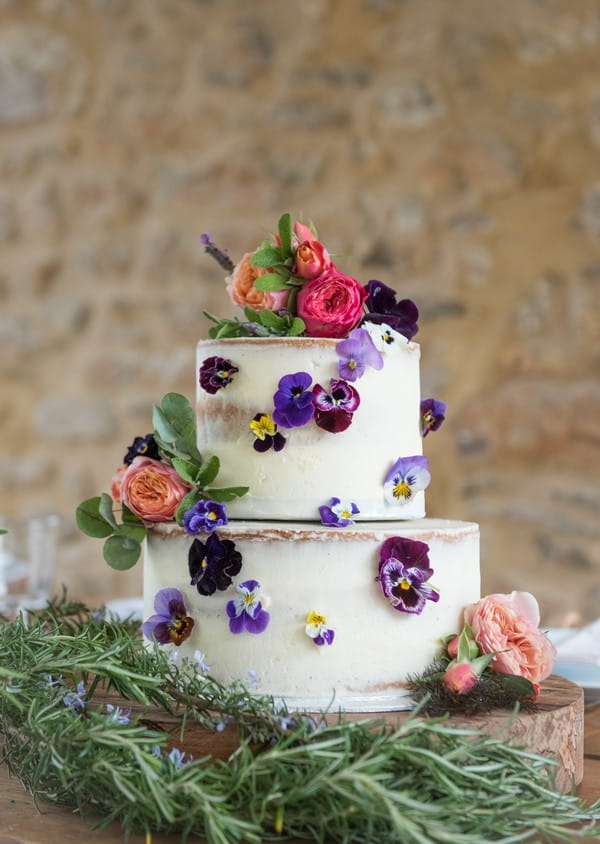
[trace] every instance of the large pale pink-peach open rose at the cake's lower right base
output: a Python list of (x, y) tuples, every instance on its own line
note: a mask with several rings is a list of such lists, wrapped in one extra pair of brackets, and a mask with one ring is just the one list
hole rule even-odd
[(516, 674), (532, 683), (552, 673), (556, 650), (538, 629), (540, 611), (529, 592), (488, 595), (465, 609), (465, 622), (483, 653), (504, 652), (492, 660), (492, 671)]

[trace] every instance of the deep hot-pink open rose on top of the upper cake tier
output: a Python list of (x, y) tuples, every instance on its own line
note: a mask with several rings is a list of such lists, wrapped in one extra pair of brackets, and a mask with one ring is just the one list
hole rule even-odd
[(310, 337), (345, 337), (362, 318), (368, 295), (360, 282), (332, 265), (300, 289), (298, 316)]

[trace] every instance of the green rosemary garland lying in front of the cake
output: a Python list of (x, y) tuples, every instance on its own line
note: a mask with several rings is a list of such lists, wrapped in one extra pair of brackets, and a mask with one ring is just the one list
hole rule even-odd
[[(547, 759), (417, 712), (397, 728), (278, 709), (241, 684), (176, 666), (66, 595), (0, 623), (3, 761), (37, 799), (124, 834), (211, 844), (572, 841), (600, 838), (600, 802), (553, 788)], [(235, 725), (226, 761), (168, 750), (166, 732), (107, 705), (116, 693), (209, 730)]]

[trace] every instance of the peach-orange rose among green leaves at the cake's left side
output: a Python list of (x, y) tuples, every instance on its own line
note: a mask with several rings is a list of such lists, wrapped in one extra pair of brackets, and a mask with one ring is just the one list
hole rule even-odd
[(144, 522), (169, 522), (190, 486), (168, 463), (135, 457), (121, 478), (121, 501)]

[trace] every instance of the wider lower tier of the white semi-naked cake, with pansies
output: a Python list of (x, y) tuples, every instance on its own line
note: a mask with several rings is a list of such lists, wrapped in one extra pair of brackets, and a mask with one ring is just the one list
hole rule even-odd
[(479, 599), (479, 529), (232, 522), (209, 543), (161, 524), (145, 549), (145, 619), (163, 589), (182, 593), (194, 622), (178, 658), (201, 651), (220, 682), (249, 683), (291, 709), (388, 711)]

